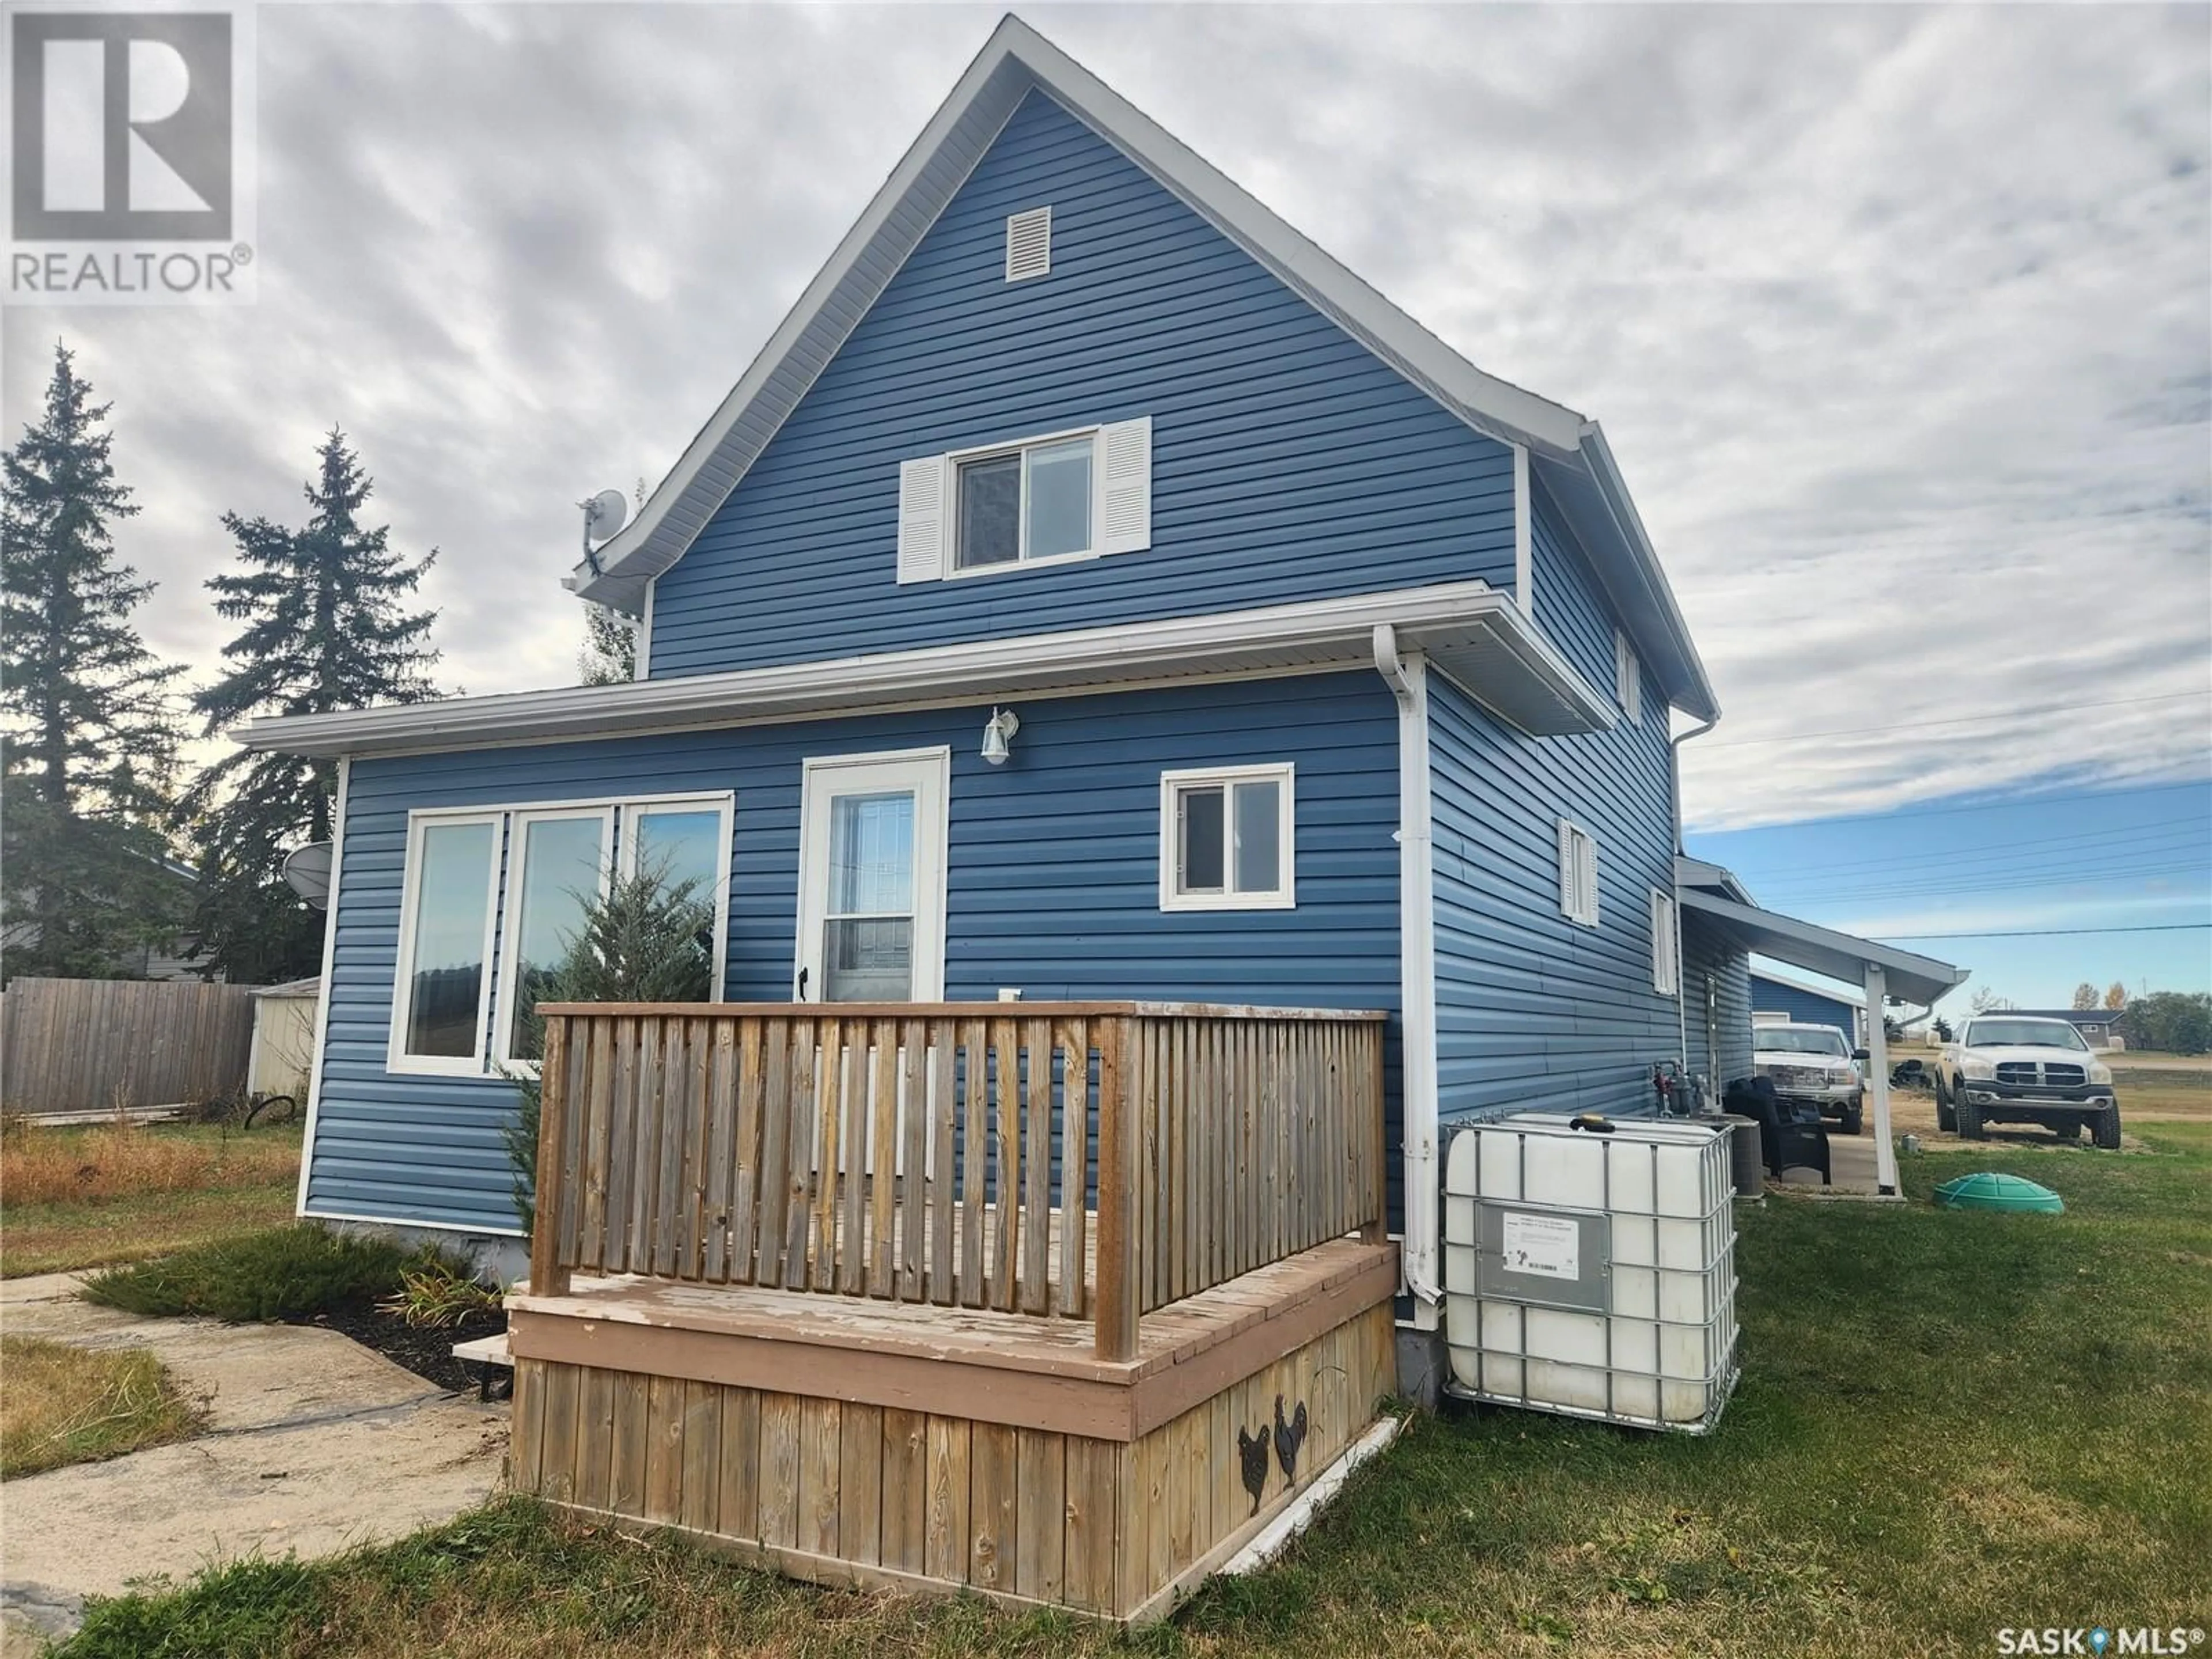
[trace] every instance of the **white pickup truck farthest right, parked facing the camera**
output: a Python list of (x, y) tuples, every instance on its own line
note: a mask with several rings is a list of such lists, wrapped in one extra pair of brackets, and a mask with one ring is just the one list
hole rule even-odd
[(2112, 1071), (2066, 1020), (1978, 1013), (1936, 1062), (1936, 1124), (1969, 1141), (1989, 1124), (2042, 1124), (2062, 1139), (2084, 1128), (2104, 1148), (2119, 1146)]

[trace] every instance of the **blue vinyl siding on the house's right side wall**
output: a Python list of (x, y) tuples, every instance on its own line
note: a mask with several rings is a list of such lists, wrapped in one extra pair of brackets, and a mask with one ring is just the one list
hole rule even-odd
[[(1544, 507), (1542, 495), (1537, 498)], [(1613, 617), (1546, 513), (1531, 542), (1535, 617), (1593, 686), (1613, 686)], [(1652, 991), (1650, 891), (1672, 891), (1663, 699), (1588, 737), (1522, 737), (1431, 675), (1438, 1113), (1646, 1113), (1650, 1068), (1681, 1053)], [(1559, 818), (1597, 838), (1599, 920), (1559, 914)]]

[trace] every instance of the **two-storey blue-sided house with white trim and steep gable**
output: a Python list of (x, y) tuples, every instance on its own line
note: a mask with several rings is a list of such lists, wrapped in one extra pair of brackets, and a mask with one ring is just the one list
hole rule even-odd
[[(1088, 1040), (1060, 1073), (958, 1040), (1020, 1009), (1376, 1011), (1383, 1294), (1416, 1349), (1451, 1124), (1648, 1113), (1659, 1062), (1747, 1048), (1703, 989), (1747, 1026), (1743, 940), (1677, 911), (1670, 714), (1719, 703), (1604, 431), (1462, 361), (1018, 20), (568, 586), (639, 619), (635, 684), (241, 732), (338, 761), (305, 1217), (520, 1237), (529, 971), (641, 858), (712, 891), (745, 1031), (849, 1004), (896, 1071), (920, 1037), (883, 1033), (953, 1022), (929, 1102), (1108, 1088)], [(1146, 1159), (1232, 1073), (1208, 1064), (1159, 1062)], [(1082, 1181), (1057, 1130), (1037, 1177), (1066, 1181), (1077, 1276), (1086, 1214), (1108, 1241), (1110, 1130), (1086, 1135)], [(956, 1155), (925, 1141), (898, 1181)], [(852, 1197), (858, 1225), (889, 1166), (816, 1146), (794, 1203)], [(533, 1281), (591, 1265), (571, 1232)]]

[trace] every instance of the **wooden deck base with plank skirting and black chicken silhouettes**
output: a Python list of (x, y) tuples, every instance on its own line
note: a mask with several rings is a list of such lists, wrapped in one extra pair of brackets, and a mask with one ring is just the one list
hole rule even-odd
[[(838, 1354), (531, 1314), (531, 1298), (518, 1298), (511, 1475), (571, 1511), (681, 1528), (796, 1577), (978, 1590), (1141, 1621), (1234, 1555), (1374, 1422), (1396, 1378), (1391, 1287), (1391, 1270), (1360, 1261), (1287, 1303), (1245, 1290), (1237, 1318), (1214, 1310), (1225, 1336), (1170, 1323), (1121, 1376)], [(717, 1349), (739, 1358), (717, 1360)], [(783, 1349), (781, 1387), (752, 1369), (770, 1349)], [(849, 1376), (867, 1374), (869, 1358), (902, 1369), (878, 1371), (874, 1396), (852, 1398), (869, 1394)], [(672, 1363), (703, 1376), (653, 1369)], [(896, 1402), (885, 1376), (898, 1378)], [(1117, 1409), (1037, 1407), (1055, 1394), (1124, 1398)], [(1305, 1411), (1287, 1469), (1279, 1402), (1287, 1422)], [(1106, 1431), (1004, 1420), (1022, 1413)]]

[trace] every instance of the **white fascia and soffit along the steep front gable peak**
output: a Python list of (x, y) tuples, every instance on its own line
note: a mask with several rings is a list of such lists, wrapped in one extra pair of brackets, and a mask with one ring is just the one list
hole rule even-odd
[(1557, 458), (1579, 453), (1586, 427), (1579, 414), (1478, 369), (1097, 75), (1009, 15), (637, 518), (575, 566), (571, 588), (637, 613), (644, 584), (675, 564), (706, 529), (1031, 88), (1064, 104), (1469, 425)]

